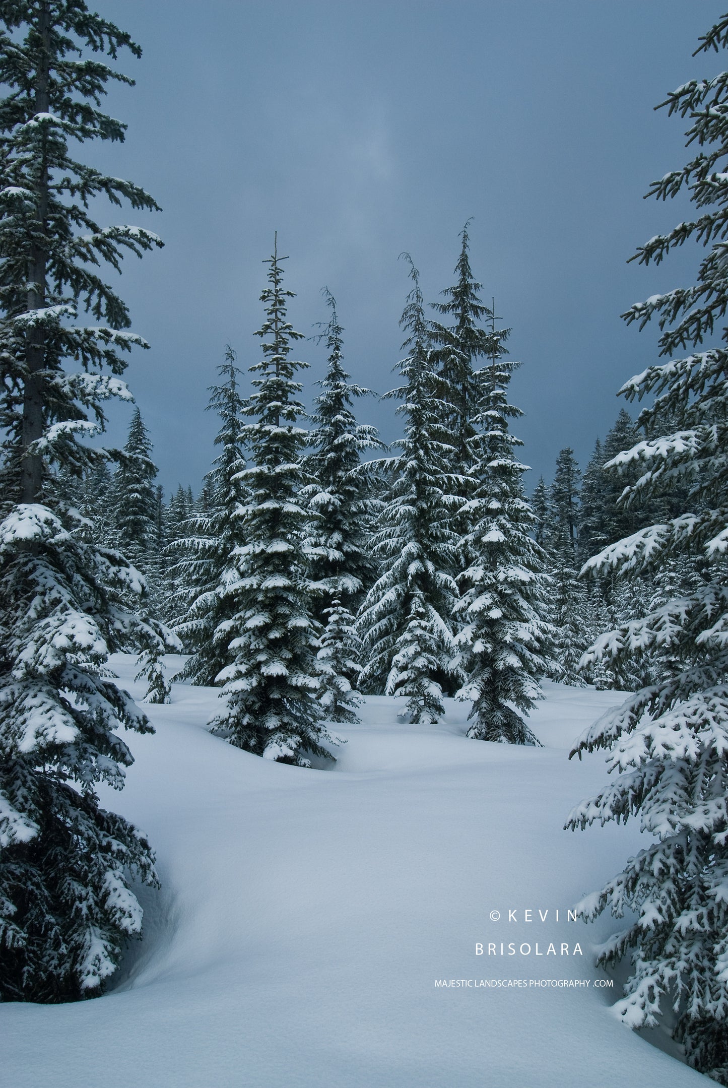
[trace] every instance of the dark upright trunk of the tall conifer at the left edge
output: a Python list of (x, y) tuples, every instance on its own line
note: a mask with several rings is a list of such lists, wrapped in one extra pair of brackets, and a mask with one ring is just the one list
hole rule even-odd
[[(48, 113), (49, 66), (50, 66), (50, 16), (48, 3), (40, 8), (38, 29), (41, 38), (41, 53), (36, 76), (36, 113)], [(48, 232), (48, 159), (47, 137), (42, 137), (42, 153), (38, 166), (36, 191), (38, 206), (34, 230), (38, 237), (34, 240), (28, 261), (28, 311), (46, 305), (48, 260), (44, 237)], [(21, 440), (21, 500), (37, 503), (42, 498), (42, 458), (26, 453), (32, 442), (41, 437), (44, 431), (44, 364), (46, 361), (46, 334), (42, 329), (30, 329), (26, 336), (25, 359), (27, 373), (23, 394), (23, 431)]]

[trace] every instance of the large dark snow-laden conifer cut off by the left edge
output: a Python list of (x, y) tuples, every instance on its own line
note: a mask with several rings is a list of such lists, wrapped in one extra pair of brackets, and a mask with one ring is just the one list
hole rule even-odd
[[(133, 762), (114, 729), (150, 731), (106, 667), (144, 633), (125, 607), (139, 576), (84, 539), (59, 484), (106, 460), (83, 438), (103, 429), (104, 400), (129, 399), (120, 353), (146, 346), (96, 269), (161, 243), (95, 223), (102, 194), (157, 205), (69, 152), (73, 140), (124, 137), (98, 104), (109, 79), (132, 81), (84, 50), (113, 60), (138, 46), (83, 0), (5, 3), (2, 22), (0, 997), (64, 1001), (99, 993), (140, 932), (129, 875), (156, 883), (144, 836), (96, 794), (101, 780), (120, 788)], [(74, 323), (78, 306), (95, 326)]]

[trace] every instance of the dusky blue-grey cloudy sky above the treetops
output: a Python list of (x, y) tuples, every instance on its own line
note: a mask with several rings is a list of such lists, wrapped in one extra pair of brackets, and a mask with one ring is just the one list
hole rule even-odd
[[(151, 344), (128, 378), (165, 490), (198, 490), (215, 419), (203, 411), (225, 344), (259, 358), (262, 260), (289, 255), (289, 318), (310, 335), (325, 284), (354, 379), (385, 392), (399, 358), (408, 250), (434, 300), (453, 281), (469, 217), (483, 295), (513, 329), (511, 399), (522, 459), (551, 478), (573, 446), (585, 465), (621, 406), (624, 381), (656, 359), (654, 333), (619, 314), (690, 280), (691, 249), (657, 269), (627, 258), (688, 214), (644, 201), (687, 160), (683, 123), (653, 107), (726, 58), (692, 58), (721, 13), (712, 0), (99, 0), (144, 57), (112, 88), (126, 143), (90, 161), (145, 185), (165, 248), (126, 261), (121, 294)], [(106, 219), (106, 213), (104, 213)], [(322, 349), (301, 342), (321, 376)], [(392, 409), (362, 419), (395, 437)], [(128, 409), (113, 412), (123, 441)]]

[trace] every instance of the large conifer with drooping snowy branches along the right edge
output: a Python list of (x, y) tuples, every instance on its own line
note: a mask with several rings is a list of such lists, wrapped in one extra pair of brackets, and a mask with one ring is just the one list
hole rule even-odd
[[(726, 47), (728, 16), (700, 49)], [(650, 195), (665, 199), (687, 190), (701, 211), (636, 256), (645, 264), (659, 263), (689, 238), (710, 250), (693, 286), (653, 296), (625, 314), (640, 327), (656, 318), (661, 354), (669, 361), (649, 366), (622, 386), (630, 400), (654, 397), (639, 419), (651, 437), (618, 455), (612, 467), (637, 477), (627, 504), (656, 498), (675, 484), (687, 490), (689, 500), (678, 516), (607, 547), (590, 566), (633, 581), (667, 561), (698, 555), (705, 579), (603, 635), (592, 648), (592, 659), (616, 663), (656, 652), (664, 675), (580, 739), (572, 755), (612, 750), (616, 780), (582, 802), (568, 826), (639, 815), (653, 836), (618, 876), (582, 902), (581, 913), (591, 918), (607, 906), (617, 917), (636, 912), (637, 919), (599, 957), (610, 964), (631, 953), (632, 974), (618, 1005), (625, 1023), (655, 1025), (671, 1006), (674, 1035), (690, 1064), (728, 1085), (728, 329), (721, 330), (719, 346), (673, 358), (716, 332), (728, 307), (723, 240), (728, 73), (692, 79), (662, 104), (690, 119), (688, 143), (698, 151), (683, 169), (653, 183)], [(676, 421), (676, 429), (655, 434), (656, 422), (666, 419)]]

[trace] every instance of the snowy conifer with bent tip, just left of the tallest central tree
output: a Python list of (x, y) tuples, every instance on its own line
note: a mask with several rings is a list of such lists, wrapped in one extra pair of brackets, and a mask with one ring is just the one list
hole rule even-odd
[[(385, 394), (402, 401), (399, 456), (386, 466), (394, 473), (388, 502), (379, 516), (372, 551), (382, 572), (367, 594), (358, 620), (368, 652), (362, 679), (384, 679), (387, 695), (406, 698), (403, 716), (436, 721), (444, 713), (443, 683), (449, 680), (454, 644), (451, 627), (457, 588), (452, 577), (457, 536), (454, 515), (461, 482), (447, 471), (454, 456), (442, 422), (443, 388), (428, 346), (418, 274), (400, 324), (407, 356), (397, 363), (404, 384)], [(373, 462), (372, 470), (378, 465)]]

